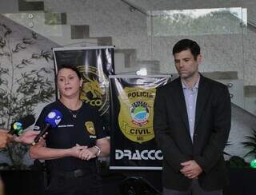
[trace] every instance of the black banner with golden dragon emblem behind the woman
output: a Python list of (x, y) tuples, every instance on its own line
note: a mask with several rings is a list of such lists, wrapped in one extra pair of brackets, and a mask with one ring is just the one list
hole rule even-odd
[[(56, 74), (62, 65), (77, 66), (82, 75), (81, 100), (95, 106), (110, 124), (109, 75), (114, 74), (114, 46), (54, 48)], [(59, 94), (57, 93), (57, 98)]]

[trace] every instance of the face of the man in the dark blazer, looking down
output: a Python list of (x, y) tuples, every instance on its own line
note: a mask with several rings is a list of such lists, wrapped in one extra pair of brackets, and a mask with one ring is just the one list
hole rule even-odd
[(174, 65), (181, 78), (193, 78), (198, 73), (198, 65), (202, 62), (202, 55), (199, 54), (197, 59), (194, 59), (190, 50), (183, 50), (174, 54)]

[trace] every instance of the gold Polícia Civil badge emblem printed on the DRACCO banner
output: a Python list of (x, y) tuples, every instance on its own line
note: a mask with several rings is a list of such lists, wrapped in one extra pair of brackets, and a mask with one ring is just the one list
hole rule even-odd
[(155, 89), (126, 87), (119, 95), (118, 123), (122, 133), (131, 141), (142, 143), (154, 138), (153, 109)]

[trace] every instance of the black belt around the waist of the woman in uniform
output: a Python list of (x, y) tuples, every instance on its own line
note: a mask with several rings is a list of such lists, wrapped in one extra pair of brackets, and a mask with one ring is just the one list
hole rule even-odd
[(62, 177), (82, 177), (82, 176), (91, 176), (96, 171), (92, 169), (76, 169), (73, 171), (52, 171), (50, 172), (53, 176), (62, 176)]

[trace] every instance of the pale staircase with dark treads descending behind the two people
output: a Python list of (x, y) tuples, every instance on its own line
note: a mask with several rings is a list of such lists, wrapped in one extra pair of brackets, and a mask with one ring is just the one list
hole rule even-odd
[[(14, 14), (3, 15), (49, 38), (59, 46), (111, 46), (115, 40), (115, 37), (111, 36), (91, 36), (89, 25), (67, 24), (66, 13), (46, 12), (44, 2), (18, 0), (18, 10), (13, 12)], [(248, 30), (255, 30), (253, 26), (249, 25), (249, 27)], [(134, 74), (143, 67), (148, 70), (149, 74), (159, 74), (161, 65), (158, 60), (138, 58), (138, 50), (134, 48), (115, 48), (114, 62), (116, 74)], [(225, 83), (229, 87), (231, 101), (256, 115), (256, 86), (244, 86), (244, 81), (238, 78), (236, 71), (203, 74)]]

